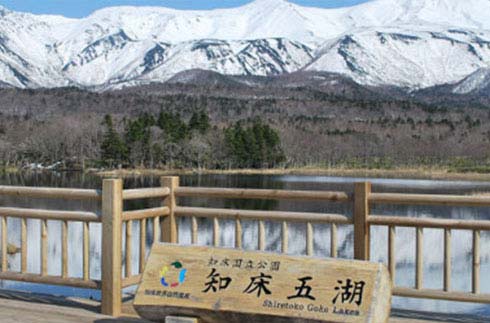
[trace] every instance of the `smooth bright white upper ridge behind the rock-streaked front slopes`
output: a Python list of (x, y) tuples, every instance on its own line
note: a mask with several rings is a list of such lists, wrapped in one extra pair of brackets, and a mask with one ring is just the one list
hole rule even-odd
[(81, 19), (70, 38), (85, 43), (91, 35), (101, 37), (101, 33), (124, 29), (133, 38), (172, 43), (279, 37), (319, 44), (373, 26), (490, 29), (489, 12), (488, 0), (374, 0), (338, 9), (302, 7), (285, 0), (256, 0), (239, 8), (210, 11), (113, 7)]

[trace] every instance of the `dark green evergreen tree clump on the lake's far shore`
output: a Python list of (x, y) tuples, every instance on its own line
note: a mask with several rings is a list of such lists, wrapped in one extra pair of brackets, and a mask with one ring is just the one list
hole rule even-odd
[(271, 168), (286, 160), (278, 132), (258, 118), (221, 129), (211, 126), (204, 110), (193, 112), (188, 121), (160, 111), (119, 122), (110, 114), (104, 117), (100, 166)]

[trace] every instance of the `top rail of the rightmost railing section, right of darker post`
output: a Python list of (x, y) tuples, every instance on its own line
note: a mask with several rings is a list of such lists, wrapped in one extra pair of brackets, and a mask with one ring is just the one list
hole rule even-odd
[(368, 199), (375, 204), (490, 206), (490, 197), (470, 195), (371, 193)]

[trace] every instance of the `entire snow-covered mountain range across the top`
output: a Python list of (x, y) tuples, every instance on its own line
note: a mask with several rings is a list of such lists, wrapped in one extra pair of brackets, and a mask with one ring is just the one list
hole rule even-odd
[(410, 89), (490, 68), (490, 0), (256, 0), (210, 11), (113, 7), (82, 19), (0, 9), (0, 86), (111, 88), (204, 69), (340, 73)]

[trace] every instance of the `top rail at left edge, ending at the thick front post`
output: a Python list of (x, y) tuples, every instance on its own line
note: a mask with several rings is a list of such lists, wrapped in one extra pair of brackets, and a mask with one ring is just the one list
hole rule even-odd
[(74, 200), (100, 200), (102, 198), (102, 192), (95, 189), (5, 185), (0, 185), (0, 195)]

